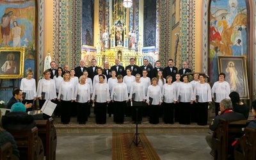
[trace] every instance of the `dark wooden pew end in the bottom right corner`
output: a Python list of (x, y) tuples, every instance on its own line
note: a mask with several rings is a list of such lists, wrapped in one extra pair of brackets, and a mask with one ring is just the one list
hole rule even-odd
[(256, 129), (245, 128), (245, 134), (237, 140), (234, 148), (235, 159), (256, 159)]

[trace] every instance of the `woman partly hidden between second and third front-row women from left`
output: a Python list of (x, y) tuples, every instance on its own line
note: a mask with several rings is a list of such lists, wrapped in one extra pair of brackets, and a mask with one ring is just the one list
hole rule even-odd
[[(56, 85), (56, 94), (57, 97), (59, 95), (59, 90), (60, 90), (60, 84), (63, 80), (63, 69), (61, 67), (59, 67), (58, 69), (58, 74), (56, 76), (53, 77), (53, 80), (55, 81), (55, 85)], [(61, 116), (61, 106), (60, 106), (60, 101), (59, 100), (55, 100), (55, 103), (57, 104), (56, 108), (54, 109), (54, 116)]]

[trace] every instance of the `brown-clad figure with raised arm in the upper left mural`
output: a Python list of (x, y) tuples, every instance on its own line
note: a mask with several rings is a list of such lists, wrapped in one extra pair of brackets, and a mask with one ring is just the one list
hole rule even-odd
[(1, 34), (3, 39), (3, 47), (8, 47), (10, 42), (10, 31), (11, 31), (11, 24), (13, 12), (10, 11), (8, 13), (4, 13), (1, 19)]

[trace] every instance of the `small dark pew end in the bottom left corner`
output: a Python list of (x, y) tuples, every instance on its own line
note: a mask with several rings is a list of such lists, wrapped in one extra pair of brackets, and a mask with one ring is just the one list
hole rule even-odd
[(12, 143), (8, 142), (0, 146), (0, 160), (19, 159), (12, 154)]

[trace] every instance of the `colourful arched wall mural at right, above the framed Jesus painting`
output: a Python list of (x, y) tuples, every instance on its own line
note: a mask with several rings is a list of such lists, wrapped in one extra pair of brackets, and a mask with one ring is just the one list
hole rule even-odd
[(247, 6), (245, 0), (211, 1), (209, 8), (210, 81), (218, 81), (218, 56), (246, 56)]

